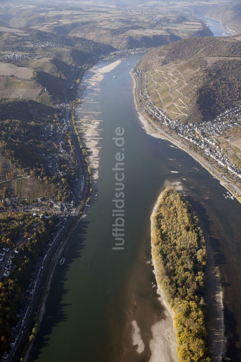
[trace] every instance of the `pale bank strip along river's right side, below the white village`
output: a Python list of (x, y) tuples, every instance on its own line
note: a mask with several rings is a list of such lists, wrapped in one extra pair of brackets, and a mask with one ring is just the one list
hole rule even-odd
[[(138, 104), (138, 100), (137, 100), (137, 82), (136, 82), (136, 78), (135, 76), (133, 75), (132, 73), (132, 70), (130, 72), (130, 75), (134, 81), (134, 85), (133, 85), (133, 95), (134, 95), (134, 102), (135, 102), (135, 108), (136, 108), (136, 111), (139, 113), (140, 117), (140, 122), (141, 124), (143, 125), (144, 122), (147, 124), (147, 126), (143, 127), (148, 134), (150, 134), (151, 136), (153, 137), (156, 137), (156, 138), (163, 138), (163, 139), (166, 139), (170, 142), (172, 142), (173, 144), (175, 144), (175, 146), (177, 146), (178, 148), (181, 148), (181, 150), (187, 152), (190, 156), (192, 156), (196, 161), (198, 161), (198, 163), (200, 165), (202, 165), (209, 173), (211, 173), (211, 175), (215, 178), (217, 178), (219, 181), (220, 181), (220, 184), (222, 186), (225, 187), (225, 189), (227, 189), (229, 192), (232, 193), (233, 197), (235, 197), (240, 203), (241, 203), (241, 197), (238, 198), (236, 197), (235, 195), (235, 190), (232, 189), (230, 187), (230, 184), (229, 184), (229, 181), (225, 182), (225, 180), (223, 180), (220, 175), (219, 175), (219, 172), (216, 171), (216, 169), (206, 160), (204, 160), (201, 156), (199, 156), (196, 152), (190, 150), (189, 148), (187, 148), (185, 146), (185, 144), (183, 144), (181, 142), (181, 139), (174, 139), (171, 135), (167, 134), (163, 129), (161, 129), (160, 127), (158, 127), (154, 122), (152, 122), (150, 119), (147, 119), (145, 117), (145, 114), (144, 113), (141, 113), (141, 110), (139, 108), (139, 104)], [(151, 124), (151, 125), (150, 125)], [(154, 127), (154, 129), (153, 129)], [(151, 131), (150, 129), (152, 129), (153, 131)], [(240, 190), (239, 190), (240, 191)], [(241, 191), (239, 193), (241, 195)]]

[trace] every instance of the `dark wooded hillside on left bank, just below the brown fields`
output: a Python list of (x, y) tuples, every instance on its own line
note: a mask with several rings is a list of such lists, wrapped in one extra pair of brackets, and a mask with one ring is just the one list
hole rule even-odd
[(34, 101), (12, 101), (0, 104), (0, 155), (17, 169), (29, 174), (48, 174), (46, 157), (50, 147), (43, 138), (46, 125), (58, 120), (51, 107)]

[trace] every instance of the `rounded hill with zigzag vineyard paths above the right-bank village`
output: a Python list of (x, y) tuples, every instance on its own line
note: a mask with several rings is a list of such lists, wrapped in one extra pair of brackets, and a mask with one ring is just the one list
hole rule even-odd
[(140, 62), (153, 104), (183, 122), (213, 120), (240, 102), (238, 37), (189, 38), (150, 50)]

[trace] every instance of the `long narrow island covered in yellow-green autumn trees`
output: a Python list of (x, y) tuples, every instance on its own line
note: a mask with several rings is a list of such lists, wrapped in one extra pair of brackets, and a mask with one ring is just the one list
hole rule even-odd
[(209, 362), (204, 324), (207, 253), (189, 202), (166, 188), (152, 215), (152, 257), (157, 283), (174, 315), (180, 362)]

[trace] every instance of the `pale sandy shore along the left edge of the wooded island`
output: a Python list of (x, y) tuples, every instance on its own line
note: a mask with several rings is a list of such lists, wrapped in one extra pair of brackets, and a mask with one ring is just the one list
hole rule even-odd
[[(162, 196), (162, 192), (158, 196), (158, 199), (153, 207), (151, 214), (151, 240), (153, 233), (153, 216), (157, 211), (157, 207), (160, 203), (160, 199)], [(156, 264), (153, 259), (153, 246), (152, 248), (152, 265), (154, 266), (153, 273), (156, 275)], [(176, 341), (176, 329), (174, 327), (174, 313), (172, 308), (166, 302), (164, 298), (164, 294), (160, 285), (157, 284), (157, 292), (160, 294), (158, 300), (161, 305), (165, 308), (165, 316), (166, 320), (161, 320), (157, 322), (152, 327), (153, 338), (150, 341), (150, 349), (152, 352), (152, 356), (149, 362), (178, 362), (177, 357), (177, 341)], [(167, 323), (169, 322), (169, 323)], [(170, 323), (171, 322), (171, 323)]]

